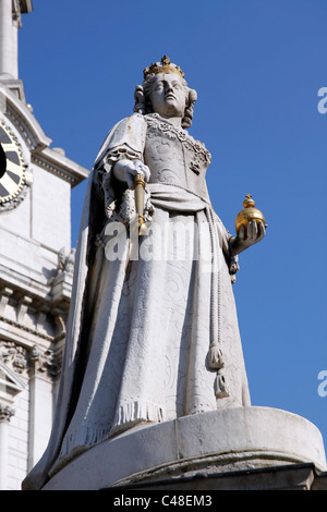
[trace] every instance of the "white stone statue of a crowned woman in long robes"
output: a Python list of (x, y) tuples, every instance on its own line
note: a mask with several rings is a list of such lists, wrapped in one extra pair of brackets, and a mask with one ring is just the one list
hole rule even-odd
[(135, 113), (110, 131), (89, 179), (57, 413), (26, 489), (126, 429), (250, 405), (232, 281), (238, 254), (265, 225), (233, 237), (213, 210), (210, 154), (185, 130), (196, 93), (179, 66), (164, 57), (145, 69), (134, 97)]

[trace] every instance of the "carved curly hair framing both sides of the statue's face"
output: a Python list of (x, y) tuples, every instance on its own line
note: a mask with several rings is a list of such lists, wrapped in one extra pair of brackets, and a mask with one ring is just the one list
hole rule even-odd
[[(149, 99), (150, 88), (155, 81), (156, 75), (150, 74), (147, 78), (143, 82), (142, 85), (137, 85), (134, 92), (134, 112), (142, 113), (145, 115), (146, 113), (153, 113), (154, 109)], [(193, 109), (194, 103), (197, 99), (196, 90), (191, 89), (187, 86), (187, 83), (184, 78), (182, 78), (182, 84), (185, 88), (186, 94), (186, 107), (184, 111), (184, 117), (182, 119), (182, 127), (190, 127), (192, 125), (192, 118), (193, 118)]]

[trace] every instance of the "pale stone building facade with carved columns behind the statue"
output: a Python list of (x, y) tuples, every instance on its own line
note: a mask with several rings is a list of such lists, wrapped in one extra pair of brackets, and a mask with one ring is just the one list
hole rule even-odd
[(32, 0), (0, 0), (0, 489), (15, 490), (52, 424), (74, 251), (71, 188), (88, 171), (52, 148), (26, 102), (17, 33)]

